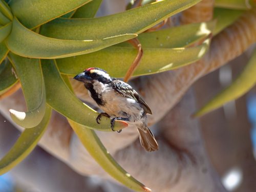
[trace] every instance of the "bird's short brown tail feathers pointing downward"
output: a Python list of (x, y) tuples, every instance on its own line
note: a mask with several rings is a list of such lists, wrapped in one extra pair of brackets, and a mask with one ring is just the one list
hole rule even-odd
[(140, 143), (146, 151), (154, 152), (158, 150), (157, 141), (148, 127), (146, 127), (146, 130), (141, 130), (138, 128), (138, 132), (140, 134)]

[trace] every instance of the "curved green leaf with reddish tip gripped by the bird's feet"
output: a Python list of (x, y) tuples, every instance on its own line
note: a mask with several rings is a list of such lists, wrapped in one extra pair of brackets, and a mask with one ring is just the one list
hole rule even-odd
[[(100, 124), (97, 124), (95, 119), (98, 113), (82, 103), (69, 90), (53, 60), (42, 60), (41, 62), (45, 77), (47, 103), (54, 110), (90, 129), (112, 132), (110, 119), (102, 117)], [(54, 84), (57, 86), (53, 86)], [(118, 131), (125, 126), (127, 126), (126, 122), (116, 121), (114, 129)]]

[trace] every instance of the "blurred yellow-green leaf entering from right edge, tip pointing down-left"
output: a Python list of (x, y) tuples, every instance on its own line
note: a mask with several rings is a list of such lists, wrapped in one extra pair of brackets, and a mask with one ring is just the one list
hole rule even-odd
[(234, 80), (230, 86), (220, 92), (208, 103), (206, 103), (195, 116), (204, 115), (212, 110), (222, 106), (224, 103), (237, 99), (248, 92), (256, 84), (256, 50), (250, 58), (249, 63), (245, 66), (242, 73)]

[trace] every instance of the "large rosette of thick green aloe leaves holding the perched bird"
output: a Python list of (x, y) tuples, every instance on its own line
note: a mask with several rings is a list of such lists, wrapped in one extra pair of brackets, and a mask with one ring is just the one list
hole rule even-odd
[[(93, 130), (112, 132), (110, 119), (96, 123), (98, 113), (74, 95), (69, 77), (88, 67), (123, 77), (137, 52), (125, 41), (135, 37), (144, 54), (134, 76), (177, 69), (199, 60), (209, 48), (207, 37), (215, 22), (143, 33), (198, 2), (164, 0), (94, 18), (99, 0), (13, 0), (8, 4), (0, 0), (0, 94), (20, 83), (27, 104), (27, 112), (10, 110), (13, 121), (25, 131), (0, 160), (0, 174), (33, 150), (55, 110), (67, 117), (84, 147), (106, 172), (136, 191), (150, 191), (106, 151)], [(190, 46), (195, 42), (202, 43)], [(117, 121), (114, 129), (125, 126), (126, 122)]]

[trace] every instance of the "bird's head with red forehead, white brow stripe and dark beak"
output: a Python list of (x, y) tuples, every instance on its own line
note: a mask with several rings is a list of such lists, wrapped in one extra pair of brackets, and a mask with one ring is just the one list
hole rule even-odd
[(76, 75), (74, 79), (84, 83), (93, 83), (94, 81), (109, 83), (111, 81), (110, 75), (100, 68), (88, 68), (84, 70), (82, 73)]

